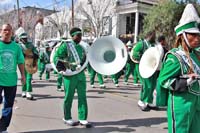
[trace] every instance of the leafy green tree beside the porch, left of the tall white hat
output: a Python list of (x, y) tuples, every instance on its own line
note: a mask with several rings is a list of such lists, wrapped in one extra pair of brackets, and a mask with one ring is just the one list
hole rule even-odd
[(178, 24), (184, 9), (183, 4), (163, 0), (158, 5), (153, 6), (152, 10), (144, 18), (144, 32), (156, 30), (156, 33), (166, 36), (169, 47), (172, 47), (175, 40), (174, 28)]

